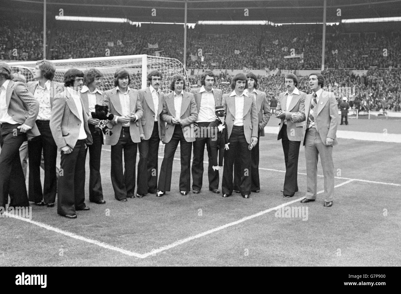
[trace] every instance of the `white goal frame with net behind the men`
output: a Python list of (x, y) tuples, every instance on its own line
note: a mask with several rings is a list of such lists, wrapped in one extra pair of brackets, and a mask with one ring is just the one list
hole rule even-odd
[[(97, 68), (103, 74), (101, 90), (110, 90), (114, 87), (115, 70), (117, 68), (125, 68), (130, 73), (130, 87), (139, 90), (147, 87), (147, 73), (149, 70), (155, 69), (162, 72), (160, 90), (164, 93), (170, 91), (171, 79), (176, 74), (184, 76), (188, 89), (190, 89), (184, 66), (174, 58), (141, 54), (49, 61), (53, 62), (57, 68), (53, 80), (61, 83), (63, 83), (64, 74), (69, 68), (77, 68), (83, 72), (89, 68)], [(21, 72), (28, 82), (34, 80), (32, 71), (36, 66), (36, 61), (8, 62), (8, 65), (14, 72)]]

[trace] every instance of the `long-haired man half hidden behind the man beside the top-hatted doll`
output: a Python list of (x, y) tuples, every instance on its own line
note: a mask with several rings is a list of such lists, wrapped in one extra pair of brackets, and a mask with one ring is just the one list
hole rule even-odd
[[(248, 91), (249, 96), (251, 96), (256, 102), (257, 108), (257, 118), (259, 122), (257, 143), (253, 146), (251, 150), (251, 191), (260, 191), (260, 181), (259, 181), (259, 137), (265, 136), (265, 126), (269, 122), (271, 116), (270, 105), (266, 98), (266, 93), (257, 90), (257, 76), (252, 72), (247, 73)], [(241, 158), (237, 157), (234, 164), (234, 191), (239, 193), (239, 183), (241, 182)]]

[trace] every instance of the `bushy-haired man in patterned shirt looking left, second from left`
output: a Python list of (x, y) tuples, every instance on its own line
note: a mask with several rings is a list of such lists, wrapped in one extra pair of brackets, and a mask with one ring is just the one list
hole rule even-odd
[[(61, 83), (53, 81), (56, 67), (49, 60), (36, 62), (33, 77), (36, 82), (28, 82), (29, 92), (39, 102), (39, 113), (36, 118), (40, 136), (28, 142), (29, 156), (29, 200), (37, 206), (53, 207), (56, 201), (57, 176), (57, 145), (50, 130), (50, 117), (57, 87)], [(43, 152), (45, 180), (41, 183), (41, 158)]]

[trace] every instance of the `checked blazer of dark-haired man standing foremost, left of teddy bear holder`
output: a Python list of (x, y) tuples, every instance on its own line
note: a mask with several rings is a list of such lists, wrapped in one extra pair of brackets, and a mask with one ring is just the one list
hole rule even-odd
[[(83, 106), (82, 98), (81, 104), (83, 127), (87, 136), (85, 142), (86, 144), (92, 144), (92, 136), (88, 127), (88, 115)], [(51, 108), (50, 130), (59, 150), (67, 145), (74, 149), (75, 144), (77, 144), (80, 125), (81, 119), (79, 118), (74, 98), (66, 88), (54, 97), (53, 107)]]

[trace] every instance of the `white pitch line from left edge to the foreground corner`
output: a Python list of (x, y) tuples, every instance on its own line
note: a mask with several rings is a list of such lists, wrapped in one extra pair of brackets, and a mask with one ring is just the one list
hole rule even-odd
[(30, 220), (29, 218), (22, 218), (20, 216), (14, 216), (14, 214), (10, 215), (10, 214), (8, 214), (8, 212), (5, 212), (5, 214), (7, 214), (7, 216), (9, 218), (16, 218), (18, 220), (23, 220), (24, 222), (29, 222), (30, 224), (34, 224), (34, 225), (39, 226), (41, 228), (45, 228), (46, 230), (53, 231), (53, 232), (65, 235), (67, 237), (71, 237), (71, 238), (74, 238), (74, 239), (77, 239), (77, 240), (85, 241), (85, 242), (88, 242), (88, 243), (91, 243), (91, 244), (94, 244), (94, 245), (97, 245), (97, 246), (100, 246), (100, 247), (103, 247), (103, 248), (106, 248), (106, 249), (109, 249), (109, 250), (114, 250), (114, 251), (120, 252), (122, 254), (126, 254), (128, 256), (135, 256), (135, 257), (138, 257), (138, 258), (144, 258), (143, 254), (140, 254), (140, 253), (131, 252), (131, 251), (128, 251), (128, 250), (125, 250), (125, 249), (122, 249), (122, 248), (118, 248), (118, 247), (115, 247), (115, 246), (112, 246), (112, 245), (109, 245), (109, 244), (106, 244), (106, 243), (103, 243), (103, 242), (99, 242), (97, 240), (92, 240), (92, 239), (89, 239), (89, 238), (86, 238), (86, 237), (83, 237), (83, 236), (79, 236), (79, 235), (76, 235), (74, 233), (67, 232), (67, 231), (64, 231), (64, 230), (60, 230), (58, 228), (54, 228), (54, 227), (49, 226), (47, 224), (43, 224), (41, 222), (36, 222), (34, 220)]

